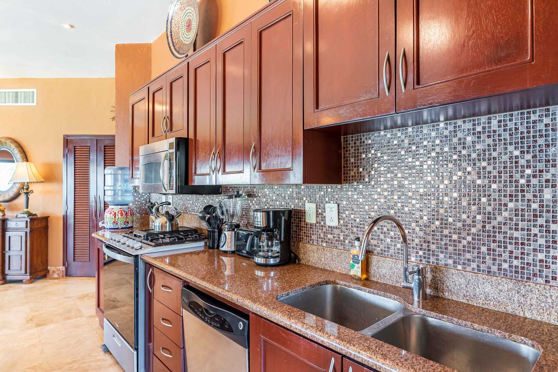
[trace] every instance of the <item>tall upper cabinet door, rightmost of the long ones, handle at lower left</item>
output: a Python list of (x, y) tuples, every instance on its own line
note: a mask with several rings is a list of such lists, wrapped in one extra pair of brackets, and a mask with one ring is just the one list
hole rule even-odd
[(302, 2), (279, 2), (251, 32), (251, 183), (302, 183)]

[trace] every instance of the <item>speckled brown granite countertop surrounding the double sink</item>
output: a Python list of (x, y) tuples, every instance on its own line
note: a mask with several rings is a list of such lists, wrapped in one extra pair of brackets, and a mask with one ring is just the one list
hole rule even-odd
[(533, 371), (558, 371), (558, 326), (550, 323), (436, 296), (413, 303), (412, 291), (406, 288), (356, 281), (343, 273), (303, 264), (260, 267), (246, 257), (219, 250), (142, 256), (142, 260), (379, 371), (454, 370), (282, 304), (276, 296), (325, 283), (357, 288), (393, 298), (421, 315), (535, 347), (541, 355)]

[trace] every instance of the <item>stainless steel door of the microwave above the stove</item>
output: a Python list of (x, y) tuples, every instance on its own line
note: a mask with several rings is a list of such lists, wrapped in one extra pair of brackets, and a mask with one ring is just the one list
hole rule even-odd
[(140, 192), (174, 193), (174, 151), (140, 155)]

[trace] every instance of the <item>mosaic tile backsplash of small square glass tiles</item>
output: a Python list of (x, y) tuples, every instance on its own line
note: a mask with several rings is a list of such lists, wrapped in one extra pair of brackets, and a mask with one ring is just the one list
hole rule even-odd
[[(391, 214), (405, 225), (412, 261), (558, 286), (557, 109), (345, 136), (342, 185), (223, 193), (247, 195), (248, 226), (254, 208), (294, 209), (294, 241), (350, 249), (374, 217)], [(173, 195), (172, 203), (197, 214), (219, 199)], [(306, 202), (318, 204), (315, 224), (304, 221)], [(326, 226), (325, 203), (339, 204), (339, 226)], [(401, 258), (397, 229), (382, 225), (368, 249)]]

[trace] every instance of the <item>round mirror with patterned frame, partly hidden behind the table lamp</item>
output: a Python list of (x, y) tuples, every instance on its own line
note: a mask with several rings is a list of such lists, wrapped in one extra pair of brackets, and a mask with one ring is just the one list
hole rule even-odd
[(20, 196), (22, 183), (9, 183), (16, 162), (27, 161), (20, 144), (8, 137), (0, 137), (0, 203), (11, 202)]

